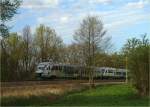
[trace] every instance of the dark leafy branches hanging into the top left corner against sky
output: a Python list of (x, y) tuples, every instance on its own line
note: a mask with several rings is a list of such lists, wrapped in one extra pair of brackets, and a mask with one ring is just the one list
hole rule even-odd
[(8, 27), (5, 22), (17, 13), (17, 9), (21, 4), (21, 0), (1, 0), (0, 1), (0, 36), (8, 36)]

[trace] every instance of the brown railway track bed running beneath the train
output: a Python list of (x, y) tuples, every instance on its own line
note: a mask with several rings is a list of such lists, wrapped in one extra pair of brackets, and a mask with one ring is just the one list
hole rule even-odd
[[(124, 83), (124, 80), (95, 80), (95, 84)], [(62, 85), (62, 84), (88, 84), (88, 80), (49, 80), (49, 81), (21, 81), (21, 82), (0, 82), (1, 87), (21, 87), (21, 86), (42, 86), (42, 85)]]

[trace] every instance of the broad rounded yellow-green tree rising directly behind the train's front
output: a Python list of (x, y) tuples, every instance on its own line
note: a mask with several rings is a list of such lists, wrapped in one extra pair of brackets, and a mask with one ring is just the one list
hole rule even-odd
[(54, 29), (40, 25), (36, 29), (34, 42), (37, 46), (38, 59), (42, 59), (42, 61), (45, 59), (60, 60), (59, 49), (63, 43)]

